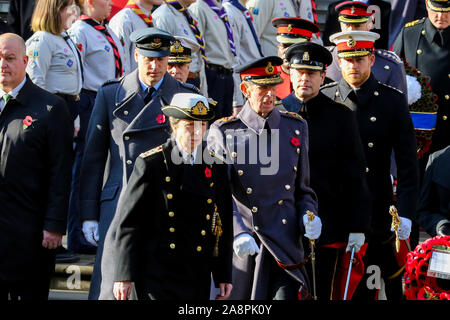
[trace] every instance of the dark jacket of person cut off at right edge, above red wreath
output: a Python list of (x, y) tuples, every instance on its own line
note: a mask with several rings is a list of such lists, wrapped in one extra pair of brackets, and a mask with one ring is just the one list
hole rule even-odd
[(419, 225), (432, 237), (443, 224), (450, 224), (450, 147), (428, 159), (417, 216)]

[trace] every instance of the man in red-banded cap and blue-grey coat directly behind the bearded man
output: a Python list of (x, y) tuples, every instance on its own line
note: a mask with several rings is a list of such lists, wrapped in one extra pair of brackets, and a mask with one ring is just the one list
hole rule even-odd
[[(360, 30), (370, 31), (373, 26), (373, 13), (369, 7), (359, 1), (346, 1), (336, 6), (338, 12), (338, 20), (342, 31)], [(377, 42), (375, 42), (375, 45)], [(333, 55), (333, 63), (327, 70), (327, 75), (334, 81), (342, 78), (341, 69), (339, 67), (337, 49), (335, 46), (330, 47)], [(405, 67), (400, 58), (392, 51), (377, 48), (374, 52), (375, 64), (371, 72), (378, 81), (390, 85), (405, 94), (407, 94)]]

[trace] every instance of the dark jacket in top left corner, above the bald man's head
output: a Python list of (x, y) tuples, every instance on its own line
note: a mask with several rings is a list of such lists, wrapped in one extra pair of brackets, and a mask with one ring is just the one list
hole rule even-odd
[(33, 35), (31, 30), (31, 16), (36, 0), (11, 0), (9, 2), (8, 25), (12, 32), (21, 36), (25, 41)]

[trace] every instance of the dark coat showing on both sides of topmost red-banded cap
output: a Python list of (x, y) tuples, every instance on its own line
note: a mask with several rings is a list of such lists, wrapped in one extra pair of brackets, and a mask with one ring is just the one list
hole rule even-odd
[[(325, 28), (322, 32), (322, 40), (324, 46), (334, 45), (330, 42), (329, 38), (332, 34), (341, 32), (341, 27), (338, 21), (338, 13), (334, 8), (337, 4), (344, 1), (335, 1), (330, 3), (328, 6), (327, 19), (325, 23)], [(376, 33), (380, 34), (380, 39), (375, 41), (375, 48), (377, 49), (388, 49), (388, 40), (389, 40), (389, 17), (391, 15), (391, 5), (383, 0), (370, 0), (369, 6), (378, 6), (381, 10), (381, 29), (373, 29)], [(376, 15), (376, 13), (375, 13)], [(376, 27), (376, 26), (375, 26)]]

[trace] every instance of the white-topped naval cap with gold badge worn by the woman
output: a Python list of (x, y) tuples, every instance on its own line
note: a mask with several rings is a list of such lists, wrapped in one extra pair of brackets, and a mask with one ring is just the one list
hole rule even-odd
[(208, 99), (196, 93), (176, 93), (170, 105), (162, 107), (161, 111), (177, 119), (207, 121), (214, 118)]

